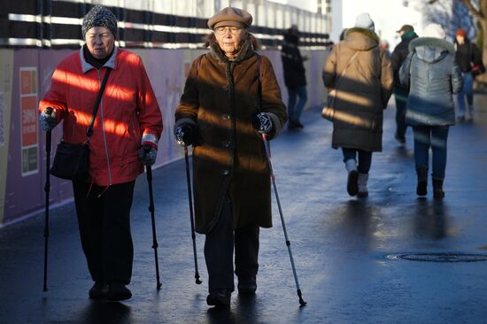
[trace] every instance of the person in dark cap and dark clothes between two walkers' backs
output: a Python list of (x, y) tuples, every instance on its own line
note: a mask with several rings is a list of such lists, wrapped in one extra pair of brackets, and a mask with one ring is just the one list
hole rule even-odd
[(396, 99), (396, 133), (394, 137), (399, 143), (406, 143), (406, 102), (409, 89), (404, 87), (399, 81), (399, 69), (402, 66), (407, 54), (409, 54), (409, 42), (417, 38), (414, 27), (404, 25), (398, 30), (401, 42), (394, 48), (390, 56), (390, 63), (394, 71), (394, 98)]

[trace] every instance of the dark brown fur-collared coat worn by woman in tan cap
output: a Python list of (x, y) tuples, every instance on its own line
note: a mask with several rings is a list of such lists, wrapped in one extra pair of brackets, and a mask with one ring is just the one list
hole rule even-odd
[[(250, 36), (250, 35), (249, 35)], [(268, 58), (261, 56), (261, 112), (271, 117), (278, 135), (287, 120), (281, 90)], [(209, 233), (228, 195), (233, 228), (272, 227), (270, 174), (261, 137), (252, 126), (258, 113), (259, 63), (251, 38), (229, 61), (218, 43), (195, 59), (189, 71), (175, 126), (196, 126), (193, 189), (198, 233)]]

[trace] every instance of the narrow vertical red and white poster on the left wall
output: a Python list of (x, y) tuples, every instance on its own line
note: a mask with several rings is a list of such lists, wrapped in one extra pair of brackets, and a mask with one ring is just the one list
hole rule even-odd
[(20, 138), (22, 176), (38, 172), (37, 68), (20, 67)]

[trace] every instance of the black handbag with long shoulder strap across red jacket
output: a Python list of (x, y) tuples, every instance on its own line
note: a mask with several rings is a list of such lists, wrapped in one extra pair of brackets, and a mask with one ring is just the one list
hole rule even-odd
[(61, 141), (58, 143), (56, 149), (56, 155), (52, 166), (50, 166), (50, 174), (55, 177), (66, 180), (82, 181), (88, 178), (88, 164), (89, 164), (89, 138), (93, 135), (93, 124), (97, 117), (98, 105), (103, 96), (104, 86), (108, 80), (108, 75), (112, 71), (109, 68), (104, 74), (104, 80), (100, 91), (98, 92), (95, 106), (93, 107), (93, 113), (91, 115), (91, 122), (86, 130), (86, 140), (82, 144), (71, 144)]

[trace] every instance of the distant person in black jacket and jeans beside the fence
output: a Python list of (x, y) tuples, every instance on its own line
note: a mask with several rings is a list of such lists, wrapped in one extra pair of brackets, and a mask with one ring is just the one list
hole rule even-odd
[[(297, 25), (292, 25), (284, 33), (281, 58), (284, 70), (284, 83), (288, 89), (288, 118), (290, 128), (303, 128), (300, 117), (308, 98), (306, 92), (306, 73), (303, 62), (307, 59), (301, 56), (298, 49), (299, 31)], [(296, 99), (299, 97), (298, 103)]]

